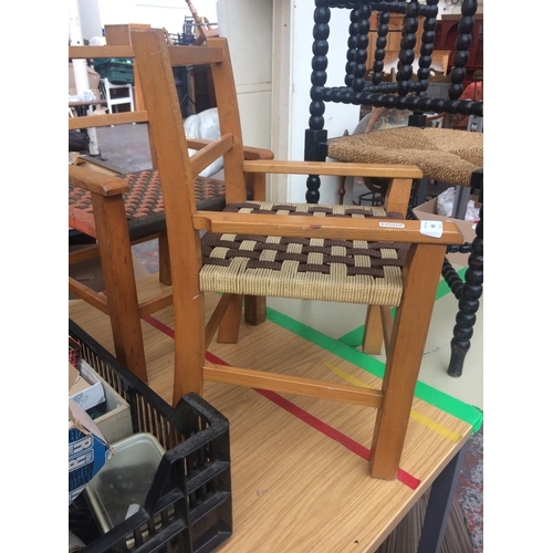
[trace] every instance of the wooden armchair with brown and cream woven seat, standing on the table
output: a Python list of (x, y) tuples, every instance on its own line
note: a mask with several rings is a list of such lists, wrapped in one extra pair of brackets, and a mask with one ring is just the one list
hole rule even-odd
[[(408, 191), (420, 170), (409, 166), (244, 159), (236, 85), (227, 41), (167, 46), (163, 30), (132, 31), (135, 66), (149, 115), (165, 200), (175, 306), (174, 399), (202, 394), (205, 382), (292, 393), (376, 408), (369, 473), (395, 479), (411, 409), (446, 246), (462, 243), (453, 223), (440, 238), (405, 220)], [(189, 158), (179, 117), (174, 64), (209, 63), (221, 137)], [(223, 211), (197, 208), (194, 179), (223, 155)], [(351, 175), (393, 178), (386, 210), (248, 201), (247, 176)], [(407, 194), (405, 194), (407, 191)], [(394, 210), (399, 213), (393, 213)], [(404, 212), (401, 212), (401, 210)], [(204, 294), (222, 294), (209, 321)], [(298, 298), (368, 305), (371, 328), (385, 328), (382, 389), (319, 382), (254, 367), (206, 361), (217, 340), (237, 343), (242, 298)], [(380, 316), (396, 306), (393, 323)], [(367, 336), (367, 341), (371, 338)]]

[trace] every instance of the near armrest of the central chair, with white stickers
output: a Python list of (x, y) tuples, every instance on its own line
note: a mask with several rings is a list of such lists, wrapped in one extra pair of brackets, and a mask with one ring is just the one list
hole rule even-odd
[(261, 213), (197, 211), (194, 228), (217, 233), (267, 234), (296, 238), (367, 240), (371, 242), (404, 242), (430, 244), (462, 244), (457, 225), (445, 221), (440, 238), (420, 232), (420, 221), (389, 219), (349, 219), (342, 217), (310, 217)]

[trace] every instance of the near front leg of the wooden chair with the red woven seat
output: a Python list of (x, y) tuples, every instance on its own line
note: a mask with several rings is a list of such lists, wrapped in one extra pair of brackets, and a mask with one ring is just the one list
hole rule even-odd
[(115, 354), (146, 384), (146, 356), (128, 226), (122, 196), (92, 195)]

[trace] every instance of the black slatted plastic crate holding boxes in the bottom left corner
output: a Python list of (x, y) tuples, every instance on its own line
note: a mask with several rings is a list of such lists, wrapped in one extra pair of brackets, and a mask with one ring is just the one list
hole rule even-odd
[(229, 421), (187, 394), (171, 408), (73, 321), (81, 355), (131, 405), (134, 432), (166, 449), (145, 504), (100, 535), (83, 494), (70, 507), (70, 530), (83, 553), (209, 553), (232, 534)]

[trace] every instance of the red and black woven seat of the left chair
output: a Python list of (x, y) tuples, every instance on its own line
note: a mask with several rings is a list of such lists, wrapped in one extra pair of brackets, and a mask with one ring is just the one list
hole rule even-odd
[[(131, 189), (124, 195), (131, 240), (161, 232), (166, 229), (165, 208), (157, 169), (145, 169), (121, 175)], [(196, 177), (194, 182), (198, 209), (221, 211), (225, 208), (225, 182)], [(69, 223), (75, 230), (97, 238), (92, 212), (91, 194), (83, 188), (69, 187)]]

